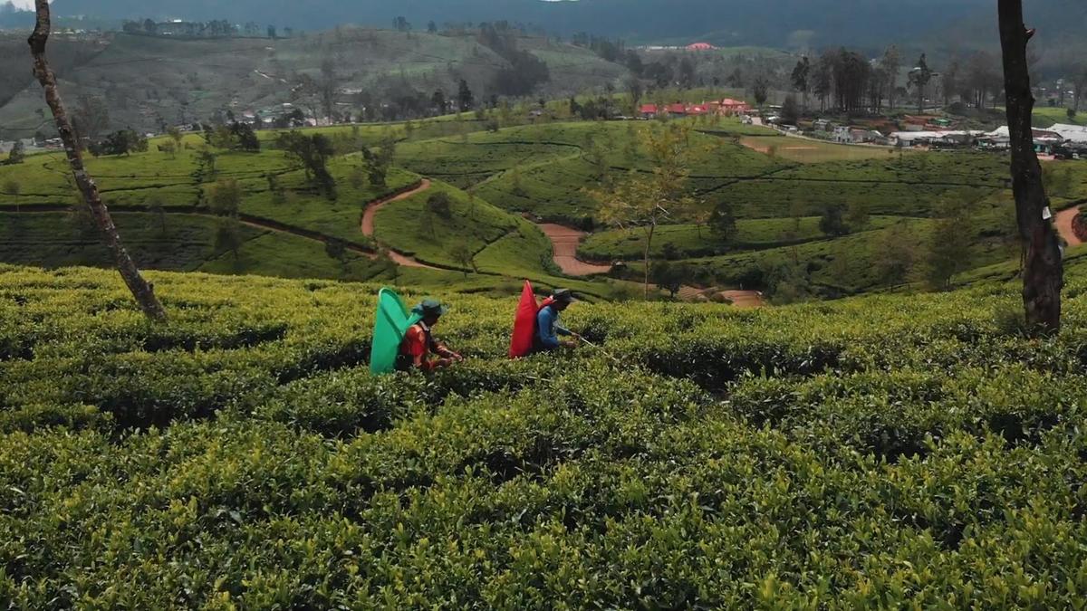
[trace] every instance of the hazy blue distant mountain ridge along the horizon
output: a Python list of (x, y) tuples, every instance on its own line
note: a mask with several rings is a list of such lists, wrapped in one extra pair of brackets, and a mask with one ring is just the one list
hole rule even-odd
[[(949, 51), (997, 46), (992, 0), (54, 0), (53, 7), (62, 17), (226, 18), (309, 30), (342, 24), (388, 27), (402, 15), (415, 29), (430, 21), (440, 26), (505, 20), (549, 34), (587, 32), (647, 43), (870, 50), (897, 43)], [(1041, 32), (1039, 47), (1058, 53), (1087, 49), (1084, 0), (1030, 0), (1025, 10)], [(4, 21), (11, 27), (25, 18), (0, 14), (0, 27)]]

